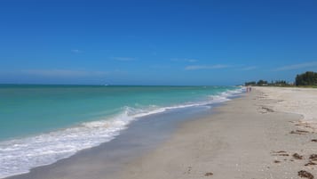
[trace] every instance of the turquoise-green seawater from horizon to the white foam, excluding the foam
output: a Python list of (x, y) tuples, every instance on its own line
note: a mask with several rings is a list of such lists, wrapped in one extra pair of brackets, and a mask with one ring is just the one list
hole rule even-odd
[(219, 86), (1, 85), (0, 140), (107, 118), (125, 107), (141, 110), (199, 102), (226, 89)]

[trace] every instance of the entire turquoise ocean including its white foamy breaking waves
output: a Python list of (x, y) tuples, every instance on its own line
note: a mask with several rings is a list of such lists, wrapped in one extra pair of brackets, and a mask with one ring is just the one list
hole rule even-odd
[(132, 121), (211, 108), (241, 93), (235, 86), (0, 85), (0, 178), (110, 142)]

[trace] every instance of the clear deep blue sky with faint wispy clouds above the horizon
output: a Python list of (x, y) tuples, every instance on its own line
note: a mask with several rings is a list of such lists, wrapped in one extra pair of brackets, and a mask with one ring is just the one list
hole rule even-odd
[(317, 71), (315, 0), (0, 0), (0, 83), (240, 85)]

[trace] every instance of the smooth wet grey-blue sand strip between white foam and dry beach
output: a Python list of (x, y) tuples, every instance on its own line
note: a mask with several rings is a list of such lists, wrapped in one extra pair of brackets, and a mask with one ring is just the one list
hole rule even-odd
[[(13, 175), (5, 179), (43, 179), (43, 177), (51, 179), (66, 174), (67, 177), (76, 178), (76, 172), (79, 173), (80, 168), (85, 168), (84, 173), (87, 174), (87, 178), (98, 176), (99, 171), (90, 171), (86, 168), (87, 164), (90, 168), (102, 167), (102, 173), (107, 174), (103, 177), (111, 178), (111, 175), (120, 172), (126, 163), (147, 151), (154, 150), (160, 143), (169, 139), (183, 122), (209, 116), (216, 106), (218, 104), (198, 106), (190, 110), (178, 109), (139, 118), (111, 142), (79, 151), (72, 157), (61, 159), (52, 165), (36, 167), (28, 174)], [(70, 173), (72, 175), (69, 175)]]

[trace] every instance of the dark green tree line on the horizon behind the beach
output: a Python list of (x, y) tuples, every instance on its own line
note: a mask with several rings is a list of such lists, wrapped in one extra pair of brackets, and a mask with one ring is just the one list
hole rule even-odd
[(250, 81), (244, 85), (271, 85), (271, 86), (288, 86), (288, 85), (317, 85), (317, 73), (313, 71), (306, 71), (305, 73), (299, 74), (295, 77), (295, 83), (288, 83), (285, 80), (275, 80), (270, 83), (260, 79), (258, 82)]

